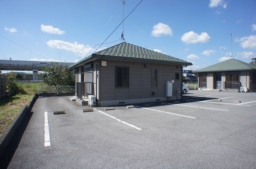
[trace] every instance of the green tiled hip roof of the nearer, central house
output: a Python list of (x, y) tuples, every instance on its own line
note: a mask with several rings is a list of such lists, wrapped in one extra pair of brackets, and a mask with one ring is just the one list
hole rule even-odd
[(130, 43), (120, 43), (115, 46), (106, 48), (104, 50), (93, 53), (87, 58), (73, 64), (70, 68), (75, 68), (77, 65), (86, 62), (93, 58), (101, 59), (116, 59), (116, 60), (127, 60), (127, 61), (141, 61), (141, 62), (156, 62), (156, 63), (167, 63), (177, 65), (193, 65), (190, 62), (183, 61), (169, 55), (159, 53), (150, 49), (139, 47)]

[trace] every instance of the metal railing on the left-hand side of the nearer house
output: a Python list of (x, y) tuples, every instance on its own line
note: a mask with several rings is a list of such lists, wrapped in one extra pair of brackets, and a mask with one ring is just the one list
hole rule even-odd
[(76, 82), (76, 96), (80, 99), (95, 95), (93, 82)]

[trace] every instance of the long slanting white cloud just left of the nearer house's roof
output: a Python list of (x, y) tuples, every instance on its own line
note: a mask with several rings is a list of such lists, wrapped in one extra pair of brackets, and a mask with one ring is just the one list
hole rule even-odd
[(90, 51), (94, 52), (95, 49), (92, 49), (90, 46), (84, 46), (83, 44), (78, 44), (77, 42), (70, 43), (64, 42), (61, 40), (50, 40), (47, 42), (48, 46), (52, 48), (65, 49), (68, 51), (73, 51), (76, 55), (87, 55)]

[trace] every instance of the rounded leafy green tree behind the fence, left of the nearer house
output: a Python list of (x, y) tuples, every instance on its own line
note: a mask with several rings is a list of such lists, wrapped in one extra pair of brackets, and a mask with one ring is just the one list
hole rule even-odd
[(42, 72), (37, 74), (40, 80), (44, 80), (48, 86), (75, 86), (75, 74), (68, 65), (51, 64), (42, 67)]

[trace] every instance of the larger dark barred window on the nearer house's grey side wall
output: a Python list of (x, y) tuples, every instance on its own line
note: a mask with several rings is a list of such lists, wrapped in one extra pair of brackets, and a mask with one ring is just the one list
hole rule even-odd
[(129, 87), (128, 67), (116, 67), (116, 87)]

